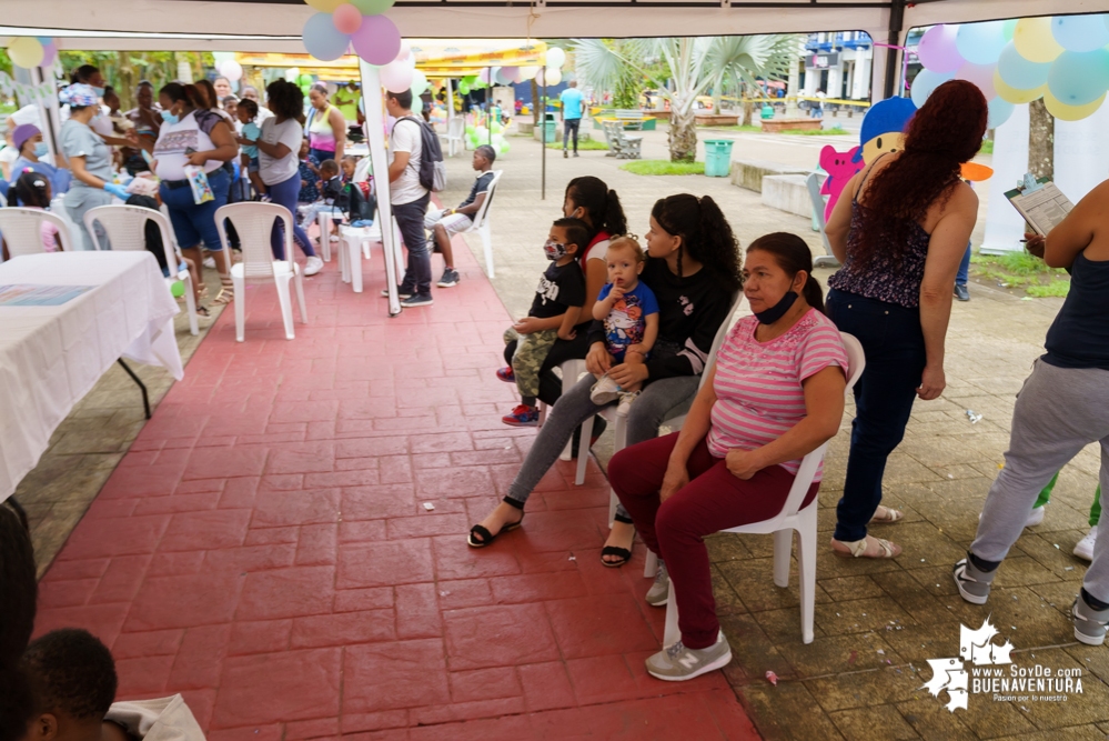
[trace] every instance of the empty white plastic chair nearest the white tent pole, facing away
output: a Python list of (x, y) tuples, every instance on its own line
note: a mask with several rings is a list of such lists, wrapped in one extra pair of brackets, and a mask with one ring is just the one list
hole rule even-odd
[[(281, 304), (281, 319), (285, 324), (285, 339), (292, 340), (293, 307), (289, 297), (289, 281), (296, 284), (296, 300), (301, 306), (301, 321), (308, 323), (308, 307), (304, 303), (304, 278), (293, 257), (293, 219), (289, 209), (276, 203), (231, 203), (215, 212), (215, 228), (220, 232), (223, 249), (231, 250), (228, 243), (224, 219), (231, 221), (239, 232), (243, 261), (231, 266), (231, 282), (235, 289), (235, 339), (243, 341), (246, 322), (246, 281), (272, 280), (278, 289)], [(270, 233), (275, 219), (281, 219), (285, 229), (285, 259), (274, 260), (270, 248)], [(229, 252), (230, 254), (230, 252)]]

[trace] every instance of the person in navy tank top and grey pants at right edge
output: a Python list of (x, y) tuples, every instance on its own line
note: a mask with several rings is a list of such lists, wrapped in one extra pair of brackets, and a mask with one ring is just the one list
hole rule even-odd
[[(1048, 329), (1047, 352), (1017, 395), (1005, 465), (990, 487), (967, 558), (955, 564), (962, 599), (985, 604), (998, 567), (1020, 537), (1037, 497), (1068, 461), (1101, 443), (1100, 497), (1109, 491), (1109, 181), (1091, 190), (1047, 236), (1044, 261), (1070, 271), (1070, 292)], [(1100, 514), (1099, 514), (1100, 517)], [(1109, 624), (1109, 539), (1095, 537), (1092, 563), (1070, 613), (1075, 638), (1101, 645)]]

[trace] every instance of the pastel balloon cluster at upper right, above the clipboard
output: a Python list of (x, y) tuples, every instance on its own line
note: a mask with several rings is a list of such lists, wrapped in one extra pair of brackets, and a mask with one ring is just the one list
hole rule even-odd
[(935, 26), (917, 49), (924, 70), (913, 82), (913, 102), (951, 79), (969, 80), (989, 101), (989, 126), (1014, 106), (1044, 98), (1065, 121), (1083, 119), (1109, 91), (1109, 16), (1022, 18)]

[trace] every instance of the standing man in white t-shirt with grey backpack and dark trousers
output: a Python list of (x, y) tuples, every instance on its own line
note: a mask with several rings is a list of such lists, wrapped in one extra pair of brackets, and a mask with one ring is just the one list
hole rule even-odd
[[(426, 124), (412, 116), (411, 90), (385, 93), (385, 111), (396, 119), (389, 137), (389, 202), (409, 249), (409, 264), (397, 292), (401, 306), (406, 309), (430, 307), (434, 300), (424, 217), (431, 192), (420, 182), (423, 127)], [(382, 291), (382, 296), (387, 297), (389, 291)]]

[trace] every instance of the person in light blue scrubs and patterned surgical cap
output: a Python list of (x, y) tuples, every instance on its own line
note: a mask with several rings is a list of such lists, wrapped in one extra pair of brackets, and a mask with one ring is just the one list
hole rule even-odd
[(130, 193), (112, 182), (112, 150), (89, 122), (100, 113), (100, 97), (90, 86), (71, 84), (60, 96), (69, 104), (69, 119), (62, 124), (59, 146), (69, 161), (73, 181), (65, 193), (65, 212), (77, 227), (82, 249), (97, 249), (95, 241), (84, 227), (84, 213), (98, 206), (109, 206), (112, 196), (127, 200)]

